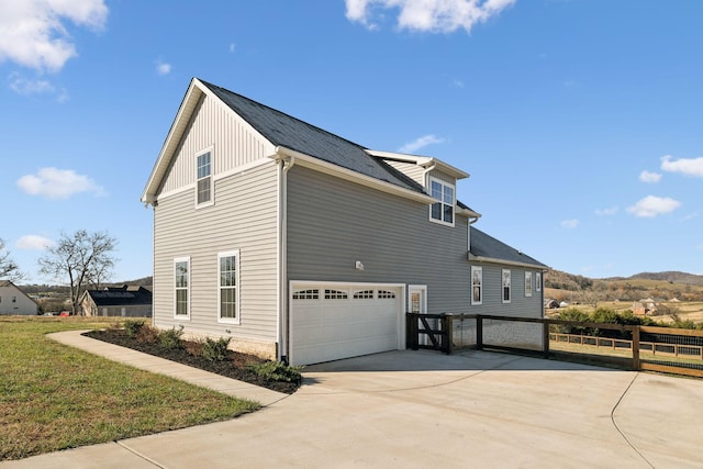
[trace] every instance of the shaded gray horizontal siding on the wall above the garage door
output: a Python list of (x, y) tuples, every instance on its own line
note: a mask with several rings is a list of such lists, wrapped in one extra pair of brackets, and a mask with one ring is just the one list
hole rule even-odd
[(426, 204), (299, 166), (288, 178), (288, 280), (426, 284), (428, 312), (469, 312), (467, 217), (432, 223)]

